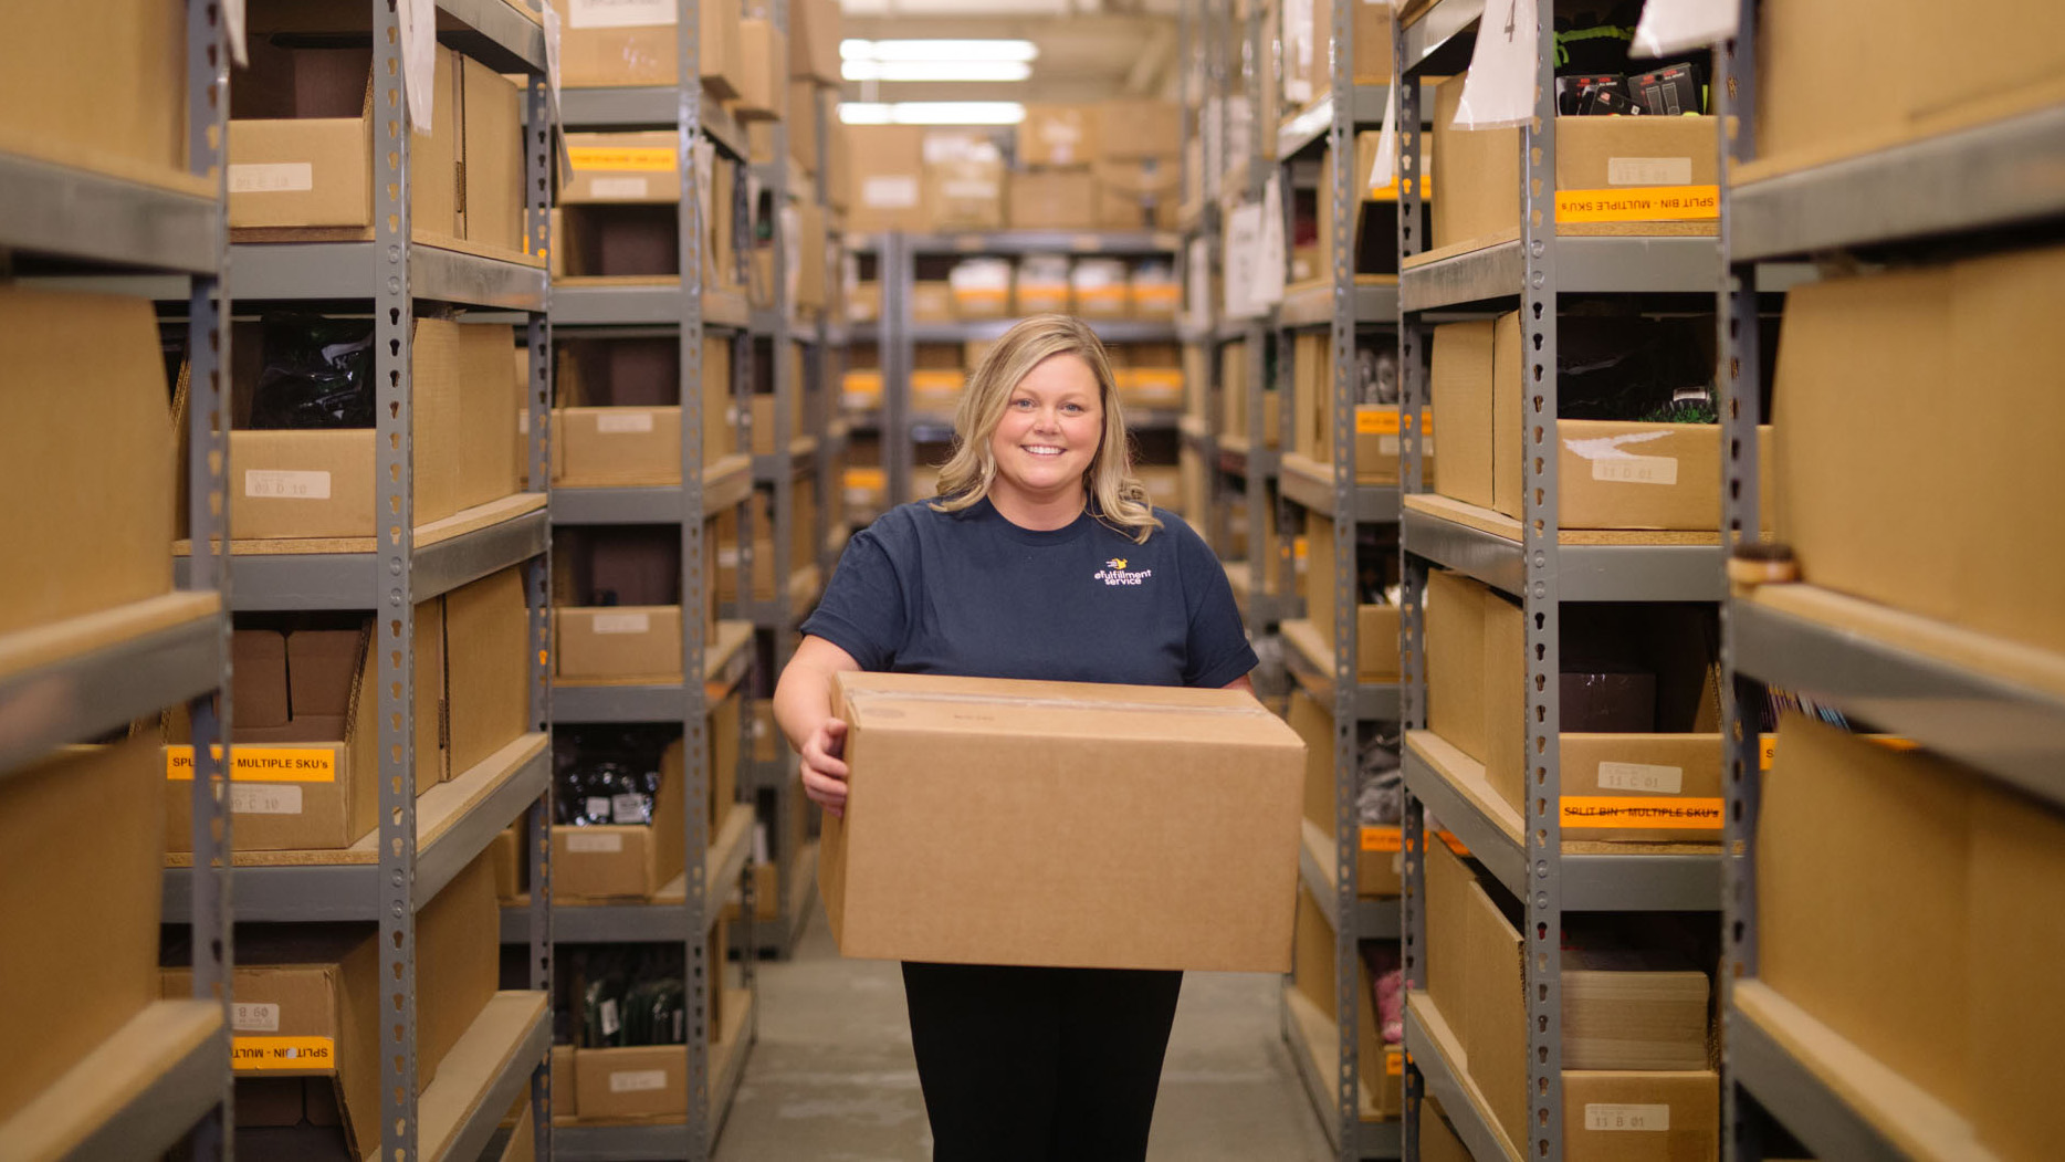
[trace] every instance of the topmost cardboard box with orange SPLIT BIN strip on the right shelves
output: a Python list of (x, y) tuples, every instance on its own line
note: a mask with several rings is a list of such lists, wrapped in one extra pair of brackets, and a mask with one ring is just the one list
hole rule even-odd
[[(1520, 130), (1462, 130), (1462, 76), (1435, 89), (1429, 175), (1441, 192), (1433, 248), (1491, 246), (1520, 229)], [(1714, 118), (1557, 118), (1557, 192), (1699, 188), (1718, 182)], [(1695, 190), (1689, 190), (1695, 192)], [(1656, 211), (1648, 221), (1671, 221)], [(1710, 221), (1718, 206), (1699, 211)], [(1679, 213), (1683, 217), (1683, 213)], [(1642, 217), (1623, 221), (1644, 221)]]

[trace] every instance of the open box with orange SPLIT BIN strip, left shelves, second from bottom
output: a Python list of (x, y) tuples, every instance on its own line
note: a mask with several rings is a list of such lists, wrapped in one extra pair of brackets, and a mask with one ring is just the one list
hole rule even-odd
[[(378, 824), (380, 714), (372, 621), (355, 630), (287, 636), (293, 716), (285, 727), (237, 727), (229, 811), (237, 850), (337, 850)], [(262, 677), (258, 679), (262, 681)], [(446, 778), (444, 601), (415, 607), (415, 793)], [(194, 760), (184, 716), (165, 729), (165, 850), (192, 850)]]

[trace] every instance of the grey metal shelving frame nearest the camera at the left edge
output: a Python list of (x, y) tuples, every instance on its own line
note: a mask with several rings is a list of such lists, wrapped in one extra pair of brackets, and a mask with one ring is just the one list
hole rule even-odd
[[(157, 1001), (0, 1125), (0, 1139), (39, 1158), (151, 1158), (186, 1141), (192, 1158), (231, 1154), (229, 982), (229, 41), (209, 0), (186, 4), (184, 190), (0, 153), (0, 250), (47, 270), (161, 283), (186, 305), (192, 407), (186, 442), (188, 528), (202, 551), (178, 592), (39, 627), (45, 650), (0, 677), (0, 716), (21, 724), (0, 745), (0, 782), (128, 720), (186, 706), (194, 743), (192, 852), (202, 875), (182, 883), (192, 916), (192, 999)], [(122, 291), (116, 291), (122, 293)], [(109, 619), (122, 632), (109, 634)], [(21, 636), (14, 636), (21, 638)], [(0, 640), (0, 644), (6, 644)], [(6, 890), (23, 892), (12, 883)]]

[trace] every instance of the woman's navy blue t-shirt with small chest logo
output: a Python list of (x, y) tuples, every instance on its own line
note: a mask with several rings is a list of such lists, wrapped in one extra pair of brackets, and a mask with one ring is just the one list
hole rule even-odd
[(989, 499), (904, 504), (853, 535), (803, 632), (863, 671), (1227, 685), (1256, 667), (1227, 572), (1154, 516), (1140, 545), (1090, 514), (1032, 530)]

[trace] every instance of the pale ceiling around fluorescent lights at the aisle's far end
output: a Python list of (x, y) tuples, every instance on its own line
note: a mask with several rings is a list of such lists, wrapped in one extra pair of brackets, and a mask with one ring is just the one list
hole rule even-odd
[(1022, 83), (849, 80), (847, 101), (1099, 101), (1167, 97), (1179, 0), (843, 0), (847, 37), (1028, 39)]

